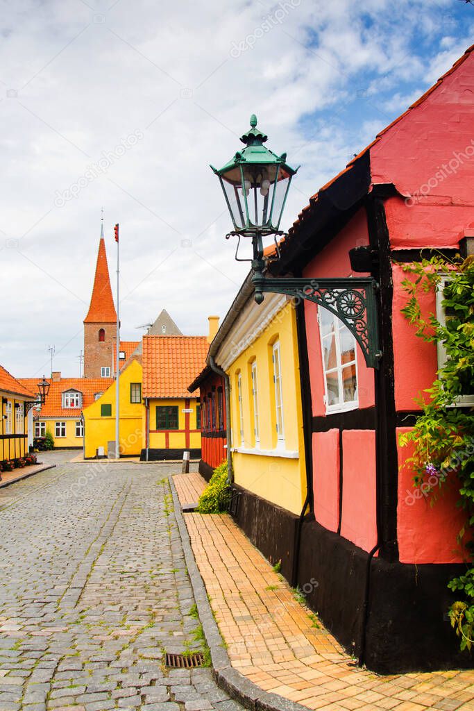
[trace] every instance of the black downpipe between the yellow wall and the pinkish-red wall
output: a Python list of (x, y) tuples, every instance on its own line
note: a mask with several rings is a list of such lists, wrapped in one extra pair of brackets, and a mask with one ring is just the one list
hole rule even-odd
[(313, 407), (311, 403), (311, 381), (309, 378), (308, 342), (306, 340), (306, 321), (304, 315), (304, 300), (301, 299), (295, 306), (296, 334), (298, 340), (298, 358), (301, 389), (301, 409), (303, 410), (303, 437), (304, 454), (306, 461), (306, 498), (298, 519), (295, 543), (293, 547), (293, 570), (291, 571), (291, 585), (298, 584), (299, 553), (301, 547), (301, 530), (308, 506), (313, 511)]

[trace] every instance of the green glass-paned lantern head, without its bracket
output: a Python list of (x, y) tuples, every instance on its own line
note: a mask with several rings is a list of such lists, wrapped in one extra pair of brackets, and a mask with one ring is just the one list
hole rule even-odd
[[(220, 170), (210, 166), (220, 180), (234, 230), (243, 237), (279, 235), (281, 215), (291, 178), (298, 169), (286, 163), (286, 153), (277, 156), (264, 146), (267, 136), (250, 117), (250, 130), (240, 139), (242, 151)], [(299, 166), (298, 166), (299, 167)]]

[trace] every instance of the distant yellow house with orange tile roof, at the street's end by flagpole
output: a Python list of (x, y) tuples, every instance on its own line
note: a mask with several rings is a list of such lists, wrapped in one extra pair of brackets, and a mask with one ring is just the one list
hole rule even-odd
[[(142, 460), (200, 456), (200, 405), (186, 390), (202, 370), (204, 336), (144, 336), (142, 355), (131, 355), (119, 377), (121, 456)], [(85, 407), (85, 458), (107, 456), (115, 440), (116, 384)]]

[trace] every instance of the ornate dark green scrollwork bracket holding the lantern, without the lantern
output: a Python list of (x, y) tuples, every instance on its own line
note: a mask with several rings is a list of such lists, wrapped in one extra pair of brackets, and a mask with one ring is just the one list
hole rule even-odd
[(379, 368), (382, 351), (379, 346), (377, 291), (379, 284), (372, 277), (313, 279), (296, 277), (266, 277), (262, 258), (262, 242), (254, 242), (252, 282), (255, 301), (262, 304), (264, 294), (287, 294), (293, 299), (313, 301), (343, 321), (355, 337), (364, 354), (367, 368)]

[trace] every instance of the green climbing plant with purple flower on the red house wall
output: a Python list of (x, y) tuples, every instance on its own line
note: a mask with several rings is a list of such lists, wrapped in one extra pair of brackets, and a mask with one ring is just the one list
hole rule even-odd
[[(457, 506), (465, 514), (458, 542), (468, 565), (465, 574), (448, 584), (459, 598), (449, 616), (460, 648), (470, 651), (474, 645), (474, 409), (456, 403), (460, 396), (474, 394), (474, 257), (450, 261), (435, 256), (402, 267), (409, 273), (402, 282), (408, 294), (402, 313), (417, 336), (428, 343), (443, 343), (446, 363), (424, 397), (416, 400), (421, 415), (413, 429), (401, 435), (400, 444), (412, 444), (413, 454), (405, 465), (415, 472), (414, 486), (430, 496), (432, 504), (443, 487), (458, 491)], [(435, 314), (425, 316), (421, 309), (420, 297), (433, 289), (443, 289), (446, 323)]]

